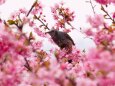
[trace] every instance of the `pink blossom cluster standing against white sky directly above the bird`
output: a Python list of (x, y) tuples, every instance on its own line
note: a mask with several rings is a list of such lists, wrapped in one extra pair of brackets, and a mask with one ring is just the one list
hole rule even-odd
[(71, 12), (69, 8), (64, 7), (63, 2), (51, 7), (51, 12), (54, 20), (56, 20), (56, 29), (66, 28), (66, 23), (71, 26), (70, 22), (75, 18), (74, 12)]

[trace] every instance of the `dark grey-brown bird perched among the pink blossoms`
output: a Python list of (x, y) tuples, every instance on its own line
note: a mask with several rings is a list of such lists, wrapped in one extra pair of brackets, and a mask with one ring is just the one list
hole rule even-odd
[(66, 32), (53, 29), (46, 33), (51, 36), (54, 43), (57, 44), (61, 50), (65, 49), (67, 53), (70, 53), (72, 51), (72, 46), (74, 46), (75, 43)]

